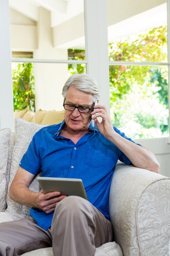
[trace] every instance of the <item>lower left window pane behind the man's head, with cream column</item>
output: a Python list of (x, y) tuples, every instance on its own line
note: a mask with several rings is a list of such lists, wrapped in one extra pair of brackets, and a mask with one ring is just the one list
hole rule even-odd
[[(14, 110), (63, 110), (62, 88), (85, 64), (12, 63)], [(36, 95), (36, 96), (35, 96)]]

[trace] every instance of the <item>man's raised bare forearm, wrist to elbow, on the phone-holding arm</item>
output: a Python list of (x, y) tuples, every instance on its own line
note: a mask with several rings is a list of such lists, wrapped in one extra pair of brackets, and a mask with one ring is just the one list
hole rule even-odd
[(159, 163), (155, 155), (147, 148), (121, 137), (118, 133), (111, 136), (109, 140), (130, 159), (134, 166), (156, 173), (159, 172)]

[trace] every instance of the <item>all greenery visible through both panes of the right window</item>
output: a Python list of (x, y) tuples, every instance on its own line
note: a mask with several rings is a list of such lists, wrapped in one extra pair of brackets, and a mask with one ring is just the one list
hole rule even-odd
[[(110, 61), (166, 62), (167, 27), (109, 44)], [(113, 124), (133, 138), (162, 137), (168, 127), (168, 67), (110, 65)]]

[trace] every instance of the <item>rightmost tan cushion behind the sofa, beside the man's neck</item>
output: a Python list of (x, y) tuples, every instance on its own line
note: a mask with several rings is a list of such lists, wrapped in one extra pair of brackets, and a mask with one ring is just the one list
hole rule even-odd
[(55, 111), (49, 110), (46, 112), (41, 124), (59, 124), (64, 119), (64, 110), (62, 111)]

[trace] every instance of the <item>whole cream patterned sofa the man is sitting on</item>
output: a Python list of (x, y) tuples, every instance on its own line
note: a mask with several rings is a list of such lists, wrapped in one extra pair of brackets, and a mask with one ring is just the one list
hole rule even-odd
[[(0, 130), (0, 222), (29, 216), (28, 207), (9, 198), (8, 188), (33, 135), (43, 126), (16, 118), (15, 133)], [(30, 189), (39, 191), (36, 178)], [(169, 177), (117, 164), (109, 213), (116, 242), (97, 248), (95, 256), (170, 256)], [(53, 252), (45, 248), (22, 255), (52, 256)]]

